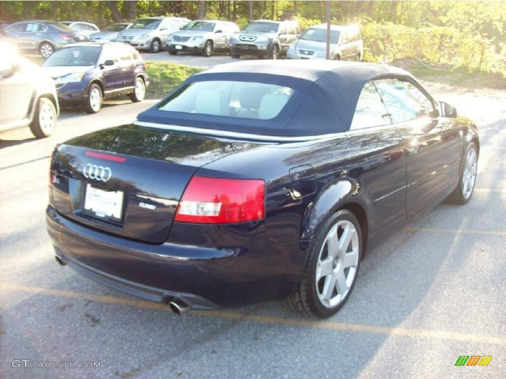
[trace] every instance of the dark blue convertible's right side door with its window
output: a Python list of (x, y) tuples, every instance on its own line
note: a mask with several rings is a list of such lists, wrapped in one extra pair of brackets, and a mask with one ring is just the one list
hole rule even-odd
[(412, 217), (457, 185), (462, 133), (451, 119), (439, 117), (434, 100), (414, 80), (393, 77), (374, 84), (405, 140), (406, 211)]

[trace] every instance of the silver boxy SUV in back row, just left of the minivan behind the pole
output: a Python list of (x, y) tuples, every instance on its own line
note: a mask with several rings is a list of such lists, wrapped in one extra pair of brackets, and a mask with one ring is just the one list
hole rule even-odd
[(230, 41), (230, 55), (256, 55), (277, 59), (286, 54), (288, 46), (301, 34), (297, 21), (251, 21)]

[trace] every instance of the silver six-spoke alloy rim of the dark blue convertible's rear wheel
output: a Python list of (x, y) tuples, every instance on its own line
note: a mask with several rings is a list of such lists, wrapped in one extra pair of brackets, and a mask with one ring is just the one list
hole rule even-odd
[(324, 307), (338, 306), (348, 295), (357, 273), (359, 243), (357, 229), (349, 220), (339, 221), (328, 232), (315, 277), (318, 299)]

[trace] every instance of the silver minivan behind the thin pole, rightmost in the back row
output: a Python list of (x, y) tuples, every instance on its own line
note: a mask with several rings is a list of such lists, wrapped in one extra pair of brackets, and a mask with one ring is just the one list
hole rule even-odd
[[(327, 24), (315, 25), (306, 30), (288, 48), (287, 59), (325, 59)], [(358, 27), (330, 25), (330, 59), (360, 61), (364, 43)]]

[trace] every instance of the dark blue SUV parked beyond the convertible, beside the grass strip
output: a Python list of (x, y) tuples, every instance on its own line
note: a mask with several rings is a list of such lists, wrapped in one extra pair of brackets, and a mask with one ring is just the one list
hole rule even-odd
[(60, 105), (83, 105), (88, 113), (98, 112), (104, 99), (124, 94), (140, 102), (149, 84), (144, 60), (123, 43), (69, 44), (42, 66), (56, 81)]

